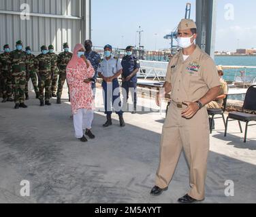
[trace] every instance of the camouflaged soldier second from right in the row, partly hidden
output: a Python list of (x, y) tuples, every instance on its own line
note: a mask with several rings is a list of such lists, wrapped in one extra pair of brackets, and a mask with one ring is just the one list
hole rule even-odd
[(54, 66), (52, 67), (52, 87), (51, 87), (51, 97), (57, 97), (57, 81), (58, 81), (58, 75), (59, 75), (59, 68), (57, 66), (57, 60), (58, 55), (54, 53), (54, 47), (53, 45), (49, 45), (48, 47), (49, 54), (52, 56), (52, 59), (54, 60)]

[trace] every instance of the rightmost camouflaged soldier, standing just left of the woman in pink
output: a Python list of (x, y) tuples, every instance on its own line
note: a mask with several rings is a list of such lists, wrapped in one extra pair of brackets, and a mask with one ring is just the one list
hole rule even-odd
[(57, 104), (61, 104), (61, 95), (63, 91), (63, 85), (66, 81), (66, 68), (67, 64), (71, 60), (73, 54), (69, 52), (69, 45), (68, 43), (63, 44), (64, 52), (59, 54), (57, 65), (59, 68), (59, 82), (58, 82), (58, 92), (57, 92)]

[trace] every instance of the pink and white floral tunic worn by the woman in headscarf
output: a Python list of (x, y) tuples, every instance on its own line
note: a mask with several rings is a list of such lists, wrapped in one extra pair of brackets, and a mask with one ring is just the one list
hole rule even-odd
[(91, 83), (84, 83), (84, 79), (92, 78), (93, 75), (95, 75), (91, 62), (89, 62), (89, 64), (89, 68), (86, 67), (86, 64), (79, 63), (75, 66), (67, 66), (67, 83), (69, 84), (71, 110), (73, 115), (78, 112), (78, 109), (95, 109)]

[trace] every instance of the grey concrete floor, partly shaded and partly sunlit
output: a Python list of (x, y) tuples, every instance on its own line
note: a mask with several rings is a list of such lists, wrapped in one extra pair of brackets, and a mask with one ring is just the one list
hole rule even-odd
[[(52, 100), (52, 106), (42, 108), (30, 96), (28, 109), (0, 104), (0, 203), (176, 203), (187, 193), (189, 169), (182, 154), (169, 190), (160, 197), (149, 194), (165, 114), (125, 113), (125, 128), (113, 115), (114, 124), (103, 129), (106, 117), (96, 112), (96, 138), (82, 143), (74, 138), (66, 91), (66, 102)], [(215, 125), (204, 203), (255, 203), (256, 126), (249, 128), (244, 144), (236, 121), (230, 122), (226, 138), (222, 119)], [(29, 197), (20, 195), (22, 180), (29, 181)], [(227, 180), (234, 183), (234, 197), (225, 195)]]

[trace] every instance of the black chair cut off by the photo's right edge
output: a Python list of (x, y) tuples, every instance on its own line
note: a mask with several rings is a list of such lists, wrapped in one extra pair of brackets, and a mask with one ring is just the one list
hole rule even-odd
[(256, 121), (256, 115), (245, 113), (244, 111), (256, 111), (256, 85), (252, 85), (249, 87), (247, 90), (245, 100), (244, 100), (244, 105), (242, 106), (242, 112), (232, 112), (229, 113), (226, 121), (226, 129), (225, 129), (225, 136), (227, 136), (227, 125), (229, 119), (232, 119), (231, 121), (238, 121), (239, 126), (240, 126), (240, 131), (242, 133), (242, 126), (240, 121), (243, 121), (246, 123), (245, 127), (245, 134), (244, 134), (244, 143), (246, 142), (247, 139), (247, 130), (249, 126), (256, 125), (256, 124), (251, 124), (249, 123), (251, 121)]

